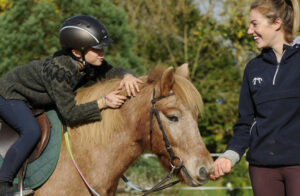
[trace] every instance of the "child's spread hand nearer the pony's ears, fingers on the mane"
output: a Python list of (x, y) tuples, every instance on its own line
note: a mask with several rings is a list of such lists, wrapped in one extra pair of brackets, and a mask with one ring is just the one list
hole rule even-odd
[(128, 96), (136, 96), (136, 92), (140, 92), (138, 83), (143, 84), (144, 82), (131, 74), (125, 74), (118, 90), (121, 90), (125, 86)]

